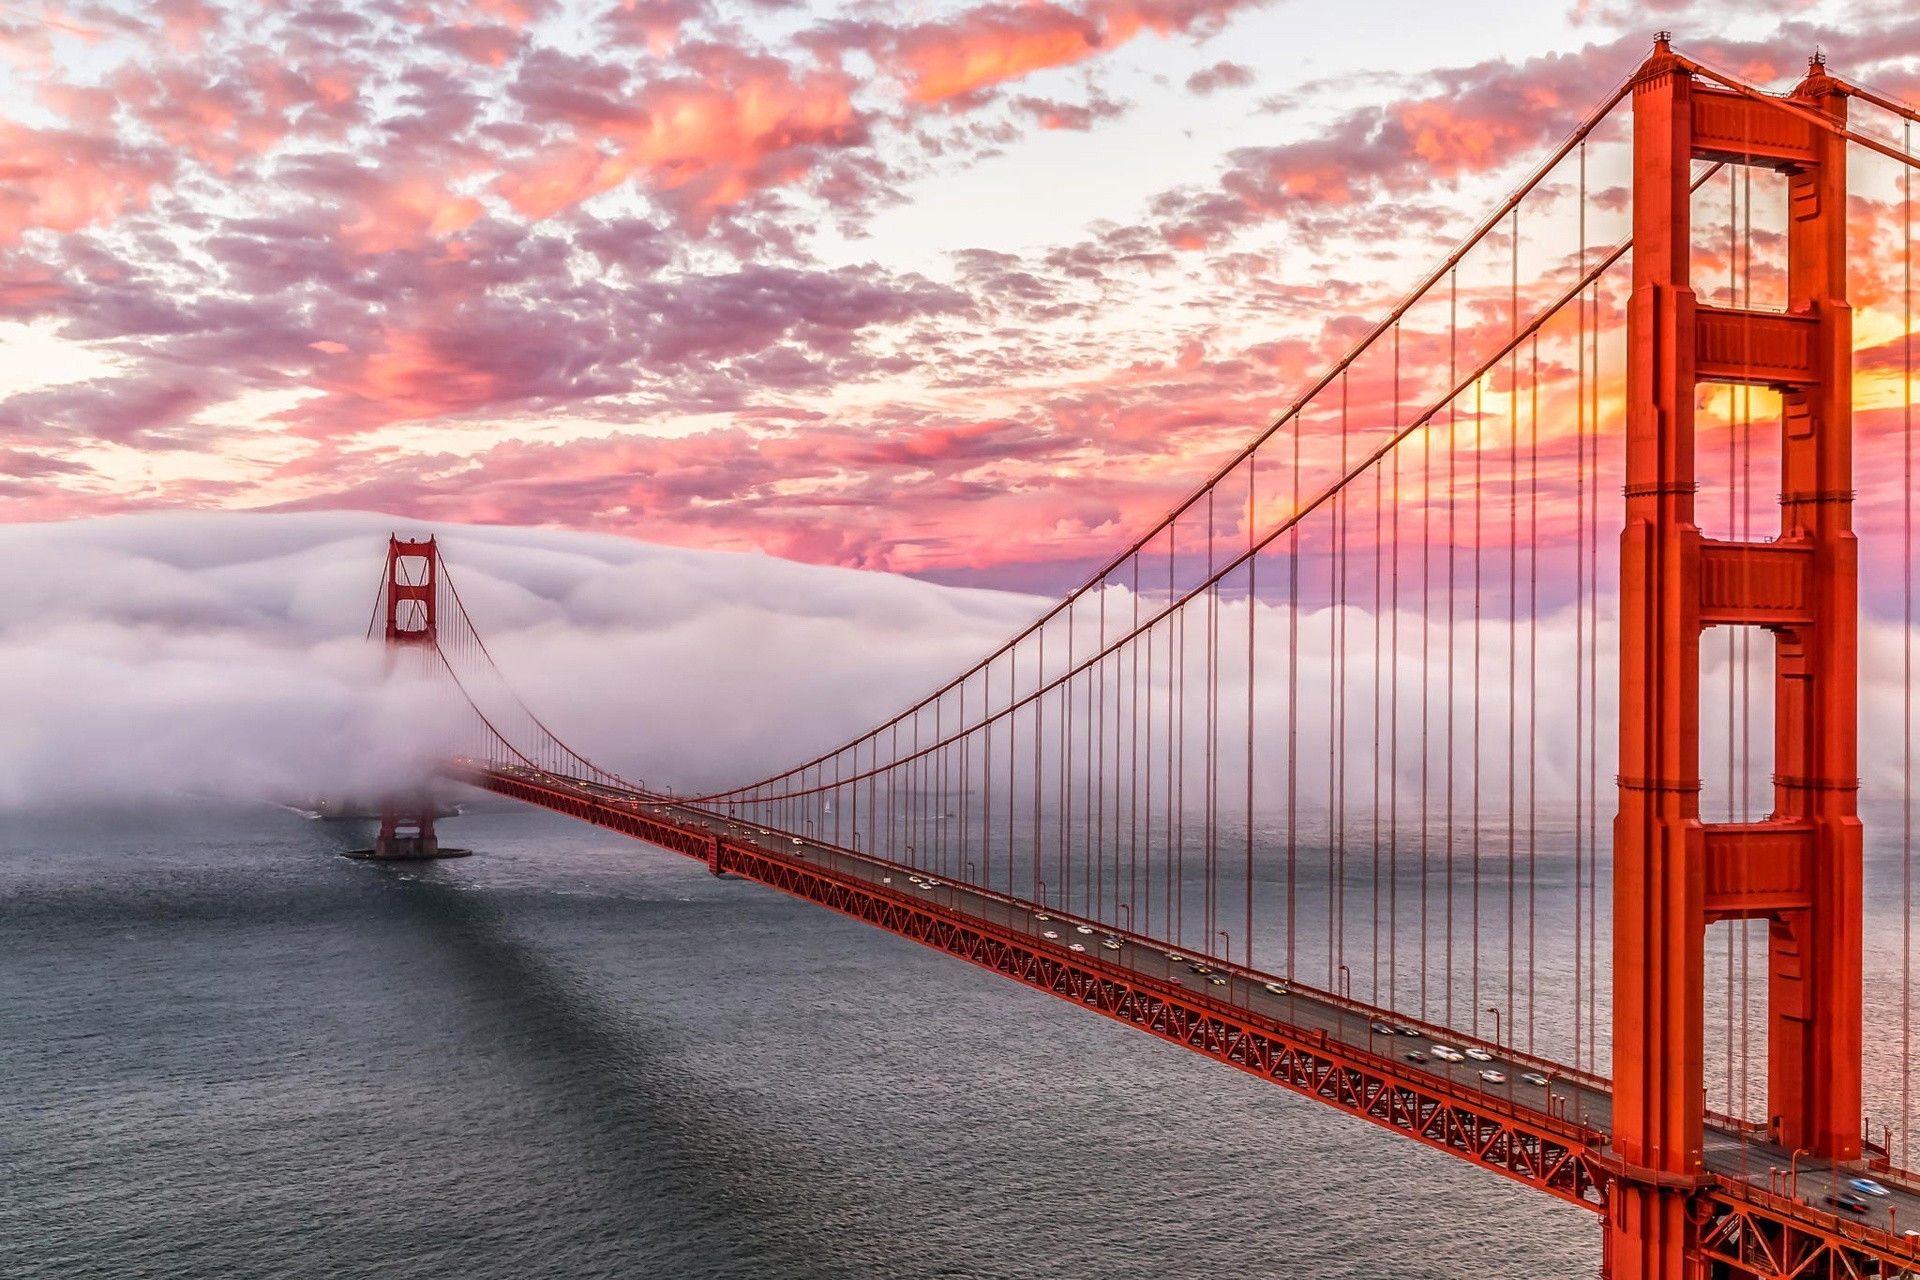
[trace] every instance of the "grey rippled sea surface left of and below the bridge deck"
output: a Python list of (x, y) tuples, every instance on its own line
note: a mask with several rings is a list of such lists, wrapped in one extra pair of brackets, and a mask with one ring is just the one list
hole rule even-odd
[(1594, 1215), (538, 812), (0, 816), (0, 1276), (1597, 1274)]

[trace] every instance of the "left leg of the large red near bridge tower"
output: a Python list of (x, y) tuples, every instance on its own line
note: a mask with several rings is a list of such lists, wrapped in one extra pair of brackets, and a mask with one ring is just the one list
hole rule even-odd
[(1620, 810), (1613, 829), (1615, 1280), (1686, 1274), (1705, 1184), (1699, 532), (1693, 524), (1692, 79), (1661, 42), (1634, 84)]

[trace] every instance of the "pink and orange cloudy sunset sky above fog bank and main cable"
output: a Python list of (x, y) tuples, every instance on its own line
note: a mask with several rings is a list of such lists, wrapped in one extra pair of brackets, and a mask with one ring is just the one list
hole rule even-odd
[(1920, 98), (1884, 0), (0, 0), (0, 520), (384, 510), (1058, 589), (1657, 25)]

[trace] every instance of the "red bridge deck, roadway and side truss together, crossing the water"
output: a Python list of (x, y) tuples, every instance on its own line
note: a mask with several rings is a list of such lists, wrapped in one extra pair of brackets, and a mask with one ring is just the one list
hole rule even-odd
[[(1607, 1082), (1551, 1061), (1277, 975), (1185, 956), (1148, 936), (874, 854), (660, 796), (526, 766), (457, 762), (447, 771), (497, 794), (699, 858), (716, 873), (755, 879), (947, 950), (1565, 1201), (1601, 1209), (1605, 1184), (1619, 1173), (1607, 1142), (1613, 1105)], [(1048, 938), (1048, 933), (1058, 936)], [(1104, 938), (1117, 940), (1119, 948), (1102, 946)], [(1075, 944), (1085, 950), (1073, 950)], [(1196, 973), (1192, 963), (1213, 973)], [(1417, 1034), (1382, 1032), (1379, 1025)], [(1490, 1061), (1442, 1061), (1432, 1057), (1436, 1044), (1478, 1048)], [(1427, 1061), (1409, 1061), (1409, 1052), (1425, 1054)], [(1482, 1071), (1505, 1079), (1486, 1080)], [(1548, 1077), (1548, 1084), (1524, 1082), (1521, 1075), (1528, 1071)], [(1741, 1134), (1726, 1121), (1709, 1121), (1701, 1192), (1715, 1201), (1722, 1221), (1732, 1222), (1722, 1242), (1726, 1261), (1738, 1259), (1763, 1276), (1893, 1276), (1920, 1268), (1920, 1180), (1876, 1174), (1891, 1194), (1870, 1197), (1868, 1215), (1853, 1217), (1830, 1211), (1824, 1197), (1847, 1176), (1857, 1176), (1855, 1171), (1801, 1159), (1795, 1188), (1788, 1180), (1793, 1163), (1778, 1146)], [(1905, 1234), (1908, 1228), (1916, 1234)], [(1822, 1251), (1834, 1259), (1864, 1259), (1878, 1270), (1857, 1265), (1809, 1270), (1805, 1263)]]

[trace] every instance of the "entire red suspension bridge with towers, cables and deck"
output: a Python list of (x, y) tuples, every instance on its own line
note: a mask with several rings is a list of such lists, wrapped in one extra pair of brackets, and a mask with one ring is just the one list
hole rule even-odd
[[(1592, 1209), (1617, 1280), (1916, 1274), (1916, 119), (1818, 58), (1770, 94), (1663, 35), (1125, 551), (747, 785), (568, 747), (434, 539), (390, 543), (374, 622), (457, 691), (445, 775)], [(1849, 265), (1899, 319), (1870, 361)], [(1899, 814), (1899, 1140), (1862, 1117), (1857, 453), (1901, 478), (1860, 512), (1901, 547), (1903, 781), (1868, 785)], [(390, 800), (380, 852), (434, 848)]]

